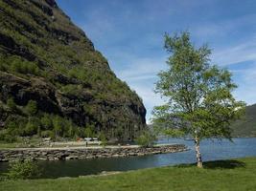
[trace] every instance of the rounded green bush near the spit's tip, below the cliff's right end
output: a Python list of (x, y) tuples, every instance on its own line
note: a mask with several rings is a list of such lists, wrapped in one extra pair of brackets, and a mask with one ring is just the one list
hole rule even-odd
[(142, 147), (151, 147), (153, 146), (155, 140), (157, 140), (155, 134), (151, 130), (147, 130), (142, 132), (142, 134), (136, 138), (136, 142), (138, 145)]

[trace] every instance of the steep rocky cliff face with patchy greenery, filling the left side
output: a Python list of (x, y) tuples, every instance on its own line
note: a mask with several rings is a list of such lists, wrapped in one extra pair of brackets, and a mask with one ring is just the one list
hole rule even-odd
[[(32, 101), (33, 114), (26, 112)], [(76, 129), (127, 139), (145, 127), (145, 115), (142, 100), (54, 0), (0, 0), (2, 130), (18, 118), (17, 134), (27, 135), (22, 128), (33, 119), (58, 117)], [(36, 124), (40, 132), (57, 129), (55, 121)]]

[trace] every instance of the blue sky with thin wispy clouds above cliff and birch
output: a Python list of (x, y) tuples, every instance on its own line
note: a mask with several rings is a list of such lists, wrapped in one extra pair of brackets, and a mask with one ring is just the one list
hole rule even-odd
[(153, 92), (167, 69), (165, 32), (187, 31), (196, 47), (207, 43), (211, 63), (227, 68), (238, 84), (233, 95), (256, 103), (255, 0), (57, 0), (103, 53), (111, 70), (142, 97), (150, 121), (163, 100)]

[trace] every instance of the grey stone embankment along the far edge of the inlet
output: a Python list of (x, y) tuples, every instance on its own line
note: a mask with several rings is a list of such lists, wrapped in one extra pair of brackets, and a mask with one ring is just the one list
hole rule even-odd
[(145, 156), (163, 153), (175, 153), (188, 150), (183, 144), (157, 145), (151, 148), (143, 147), (103, 147), (103, 148), (16, 148), (1, 149), (0, 162), (14, 159), (34, 160), (68, 160), (96, 159), (129, 156)]

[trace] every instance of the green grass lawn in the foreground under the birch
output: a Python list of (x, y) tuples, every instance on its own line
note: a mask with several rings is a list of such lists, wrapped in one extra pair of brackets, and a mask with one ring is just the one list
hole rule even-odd
[(256, 158), (129, 171), (116, 175), (57, 180), (16, 180), (0, 182), (1, 191), (255, 191)]

